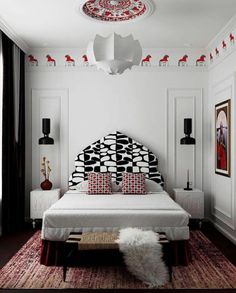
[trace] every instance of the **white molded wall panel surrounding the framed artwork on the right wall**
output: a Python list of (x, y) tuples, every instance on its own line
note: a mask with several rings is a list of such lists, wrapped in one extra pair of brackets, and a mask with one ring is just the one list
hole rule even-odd
[[(212, 173), (211, 177), (211, 213), (212, 215), (223, 222), (225, 225), (235, 230), (235, 76), (231, 75), (228, 78), (213, 85), (212, 92), (214, 103), (220, 103), (224, 100), (231, 99), (231, 177), (225, 177), (215, 174), (215, 157), (212, 156)], [(214, 105), (212, 105), (214, 111)], [(212, 113), (212, 146), (215, 149), (215, 118)]]

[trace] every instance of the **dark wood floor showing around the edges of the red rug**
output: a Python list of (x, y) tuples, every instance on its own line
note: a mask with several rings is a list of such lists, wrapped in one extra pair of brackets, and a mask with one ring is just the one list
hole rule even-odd
[[(196, 229), (194, 223), (191, 225), (191, 229)], [(32, 230), (31, 226), (27, 226), (23, 231), (15, 233), (14, 235), (8, 235), (8, 236), (4, 236), (4, 237), (0, 237), (0, 268), (3, 267), (9, 260), (10, 258), (22, 247), (22, 245), (34, 234), (35, 230)], [(203, 227), (202, 227), (202, 232), (216, 245), (216, 247), (222, 251), (222, 253), (236, 266), (236, 246), (230, 242), (226, 237), (224, 237), (221, 233), (219, 233), (210, 223), (204, 223)], [(0, 288), (0, 293), (1, 292), (16, 292), (16, 291), (20, 291), (20, 292), (24, 292), (27, 291), (27, 293), (29, 292), (39, 292), (41, 290), (33, 290), (33, 289), (20, 289), (20, 290), (12, 290), (12, 289), (1, 289)], [(80, 293), (87, 293), (87, 292), (91, 292), (91, 291), (96, 291), (96, 293), (98, 292), (119, 292), (119, 293), (125, 293), (125, 292), (155, 292), (158, 290), (154, 290), (154, 289), (147, 289), (147, 290), (123, 290), (123, 289), (119, 289), (119, 290), (84, 290), (84, 289), (60, 289), (60, 290), (54, 290), (54, 289), (50, 289), (50, 290), (42, 290), (44, 292), (55, 292), (55, 291), (59, 291), (61, 293), (64, 292), (69, 292), (69, 293), (73, 293), (73, 292), (80, 292)], [(164, 291), (165, 293), (169, 293), (169, 292), (173, 292), (173, 290), (161, 290), (161, 292)], [(191, 289), (184, 289), (184, 290), (177, 290), (178, 292), (185, 292), (185, 293), (189, 293), (189, 292), (207, 292), (207, 293), (212, 293), (212, 292), (236, 292), (235, 289), (223, 289), (223, 290), (215, 290), (215, 289), (207, 289), (207, 290), (191, 290)]]

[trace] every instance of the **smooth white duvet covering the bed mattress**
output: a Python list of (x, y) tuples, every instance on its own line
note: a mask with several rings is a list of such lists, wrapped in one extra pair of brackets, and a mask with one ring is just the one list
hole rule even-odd
[(87, 195), (69, 191), (44, 213), (42, 238), (64, 241), (70, 232), (137, 227), (189, 238), (189, 214), (166, 192), (146, 195)]

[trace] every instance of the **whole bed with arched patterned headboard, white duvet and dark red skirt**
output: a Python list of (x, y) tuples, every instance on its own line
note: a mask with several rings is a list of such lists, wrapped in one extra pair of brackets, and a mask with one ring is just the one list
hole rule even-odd
[(71, 232), (118, 231), (126, 227), (165, 232), (175, 262), (188, 262), (189, 214), (164, 191), (145, 195), (88, 195), (77, 190), (89, 172), (110, 172), (116, 184), (122, 172), (145, 173), (163, 187), (157, 157), (145, 146), (115, 132), (85, 148), (75, 159), (70, 190), (43, 216), (41, 264), (60, 265), (61, 248)]

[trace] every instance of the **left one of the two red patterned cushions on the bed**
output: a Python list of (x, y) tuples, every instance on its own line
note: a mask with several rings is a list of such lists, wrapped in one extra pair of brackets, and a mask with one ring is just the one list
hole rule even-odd
[(112, 194), (111, 173), (88, 173), (88, 194)]

